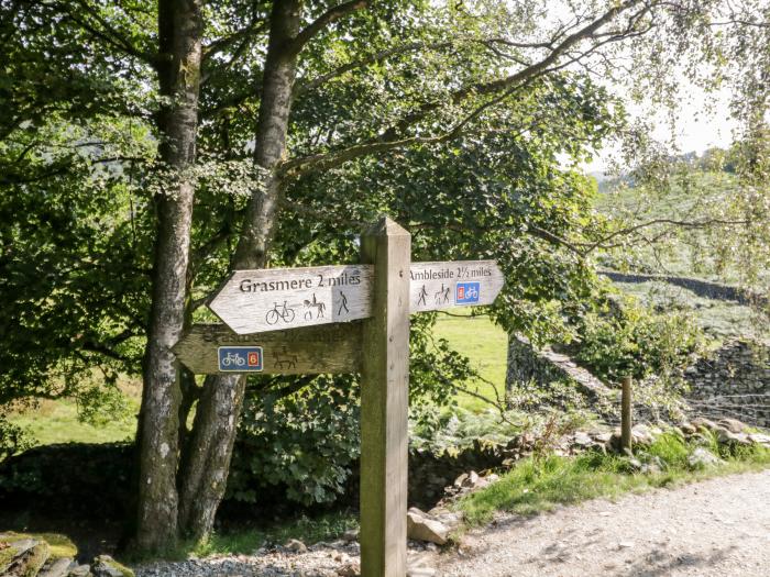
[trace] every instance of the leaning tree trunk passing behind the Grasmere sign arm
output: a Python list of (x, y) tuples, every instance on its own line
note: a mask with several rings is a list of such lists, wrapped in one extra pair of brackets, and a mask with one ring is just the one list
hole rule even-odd
[[(299, 31), (300, 2), (276, 1), (263, 75), (254, 162), (268, 170), (264, 192), (246, 208), (233, 268), (264, 268), (275, 230), (282, 181), (276, 167), (286, 152), (286, 134), (296, 77), (296, 51), (290, 42)], [(220, 375), (206, 379), (182, 478), (180, 528), (201, 539), (211, 532), (224, 495), (245, 377)]]

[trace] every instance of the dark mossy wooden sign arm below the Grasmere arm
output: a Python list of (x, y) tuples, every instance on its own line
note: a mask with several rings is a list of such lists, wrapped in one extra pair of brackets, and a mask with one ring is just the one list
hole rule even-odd
[(362, 357), (361, 322), (307, 326), (299, 330), (237, 334), (222, 324), (196, 324), (174, 345), (177, 358), (197, 375), (220, 373), (220, 346), (261, 346), (262, 373), (315, 375), (358, 373)]

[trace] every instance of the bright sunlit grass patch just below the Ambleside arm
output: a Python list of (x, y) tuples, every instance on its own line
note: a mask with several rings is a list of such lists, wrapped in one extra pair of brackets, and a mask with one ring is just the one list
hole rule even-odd
[[(495, 398), (494, 389), (505, 392), (505, 371), (508, 355), (508, 335), (487, 315), (471, 317), (439, 314), (436, 335), (446, 339), (458, 353), (468, 356), (484, 380), (472, 384), (485, 397)], [(459, 393), (460, 407), (472, 412), (488, 409), (488, 404), (466, 393)]]

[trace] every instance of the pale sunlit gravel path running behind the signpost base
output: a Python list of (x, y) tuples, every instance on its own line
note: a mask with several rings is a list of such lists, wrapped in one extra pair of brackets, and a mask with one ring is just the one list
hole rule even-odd
[[(258, 546), (258, 545), (257, 545)], [(531, 518), (501, 515), (447, 553), (410, 547), (410, 577), (770, 576), (770, 470), (674, 490), (588, 501)], [(138, 577), (354, 575), (358, 543), (306, 553), (158, 563)], [(435, 568), (433, 573), (425, 567)]]

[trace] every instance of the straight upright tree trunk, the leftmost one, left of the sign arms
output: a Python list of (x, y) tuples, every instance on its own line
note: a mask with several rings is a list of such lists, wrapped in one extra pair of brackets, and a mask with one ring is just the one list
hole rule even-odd
[(170, 347), (182, 335), (193, 221), (194, 184), (184, 174), (195, 163), (200, 86), (200, 0), (158, 4), (162, 160), (176, 174), (155, 198), (157, 233), (144, 390), (140, 415), (140, 486), (136, 546), (157, 551), (177, 537), (179, 370)]

